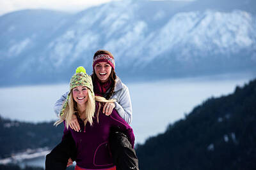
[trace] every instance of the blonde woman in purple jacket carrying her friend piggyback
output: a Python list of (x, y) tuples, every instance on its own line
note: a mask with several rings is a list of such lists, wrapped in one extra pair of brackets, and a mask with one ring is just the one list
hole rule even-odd
[[(124, 132), (132, 148), (134, 147), (134, 134), (132, 128), (118, 115), (116, 110), (113, 110), (111, 115), (102, 113), (101, 103), (113, 102), (114, 100), (95, 96), (92, 78), (86, 74), (83, 67), (78, 67), (76, 74), (70, 80), (70, 92), (63, 104), (60, 120), (55, 123), (58, 125), (64, 122), (63, 138), (60, 145), (47, 155), (45, 170), (66, 169), (68, 158), (71, 156), (68, 152), (72, 152), (70, 150), (76, 150), (72, 155), (72, 159), (76, 160), (76, 170), (116, 169), (109, 151), (111, 130), (118, 129)], [(74, 114), (80, 126), (78, 132), (69, 126)], [(74, 139), (73, 143), (70, 141), (70, 136)]]

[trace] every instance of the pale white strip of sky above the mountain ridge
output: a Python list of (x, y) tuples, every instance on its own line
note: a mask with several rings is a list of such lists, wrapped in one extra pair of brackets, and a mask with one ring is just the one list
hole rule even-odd
[(113, 0), (0, 0), (0, 15), (25, 9), (51, 9), (76, 12)]

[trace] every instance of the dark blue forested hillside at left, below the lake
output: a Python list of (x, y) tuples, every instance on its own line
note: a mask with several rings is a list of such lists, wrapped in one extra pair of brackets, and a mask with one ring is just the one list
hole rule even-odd
[(63, 134), (63, 125), (54, 127), (53, 124), (33, 124), (0, 117), (0, 159), (28, 149), (53, 148), (60, 143)]

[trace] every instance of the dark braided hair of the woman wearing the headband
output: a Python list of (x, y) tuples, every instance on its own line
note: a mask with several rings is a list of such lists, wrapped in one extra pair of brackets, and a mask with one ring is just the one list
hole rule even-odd
[[(98, 50), (97, 52), (94, 53), (93, 58), (96, 57), (97, 55), (100, 55), (100, 54), (108, 54), (111, 57), (113, 57), (113, 59), (114, 59), (114, 56), (112, 55), (112, 53), (107, 51), (107, 50)], [(91, 76), (92, 76), (92, 82), (94, 82), (95, 81), (95, 76), (97, 77), (97, 75), (94, 71), (94, 68), (93, 68), (93, 74)], [(111, 73), (109, 75), (109, 80), (111, 81), (112, 86), (109, 90), (108, 95), (106, 96), (106, 99), (109, 99), (109, 97), (111, 97), (113, 95), (114, 90), (115, 90), (115, 86), (116, 86), (116, 81), (115, 81), (116, 80), (116, 73), (115, 73), (115, 70), (113, 68), (111, 69)]]

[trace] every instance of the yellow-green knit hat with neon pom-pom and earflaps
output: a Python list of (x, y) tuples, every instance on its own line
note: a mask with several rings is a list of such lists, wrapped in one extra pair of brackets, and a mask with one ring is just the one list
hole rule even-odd
[(65, 103), (63, 104), (62, 110), (60, 112), (60, 116), (63, 115), (65, 108), (67, 107), (68, 104), (68, 99), (70, 98), (70, 94), (72, 92), (72, 89), (77, 86), (85, 86), (87, 87), (88, 93), (90, 92), (92, 94), (92, 98), (94, 99), (95, 95), (93, 92), (93, 83), (92, 83), (92, 78), (88, 74), (86, 74), (86, 70), (84, 69), (83, 66), (77, 67), (76, 73), (72, 76), (70, 79), (70, 91), (68, 92), (67, 99)]

